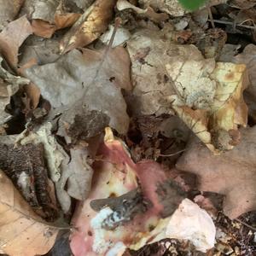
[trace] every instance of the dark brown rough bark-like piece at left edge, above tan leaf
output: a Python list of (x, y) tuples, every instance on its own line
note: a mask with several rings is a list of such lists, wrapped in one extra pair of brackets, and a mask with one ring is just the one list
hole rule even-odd
[(42, 218), (53, 220), (57, 217), (56, 206), (50, 197), (42, 143), (17, 146), (13, 137), (1, 137), (0, 168)]

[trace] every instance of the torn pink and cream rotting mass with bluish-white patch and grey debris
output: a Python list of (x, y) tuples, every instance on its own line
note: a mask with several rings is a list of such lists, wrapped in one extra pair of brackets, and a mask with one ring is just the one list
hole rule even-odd
[(161, 216), (170, 216), (186, 196), (158, 163), (134, 164), (122, 142), (109, 128), (106, 131), (89, 197), (73, 218), (78, 228), (71, 236), (74, 255), (108, 255), (125, 247), (137, 250), (166, 238), (169, 218)]

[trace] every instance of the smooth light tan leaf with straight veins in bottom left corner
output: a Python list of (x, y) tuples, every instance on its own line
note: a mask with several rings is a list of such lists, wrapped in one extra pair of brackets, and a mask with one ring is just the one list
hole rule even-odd
[(58, 230), (39, 218), (0, 172), (0, 249), (9, 255), (48, 253)]

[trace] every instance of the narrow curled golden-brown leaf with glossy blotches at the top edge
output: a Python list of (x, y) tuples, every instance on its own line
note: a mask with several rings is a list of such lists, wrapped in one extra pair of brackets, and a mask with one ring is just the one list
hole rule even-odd
[(61, 53), (83, 47), (99, 38), (108, 28), (116, 0), (96, 0), (67, 32), (61, 42)]

